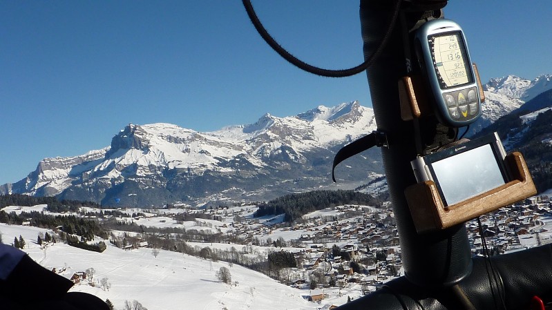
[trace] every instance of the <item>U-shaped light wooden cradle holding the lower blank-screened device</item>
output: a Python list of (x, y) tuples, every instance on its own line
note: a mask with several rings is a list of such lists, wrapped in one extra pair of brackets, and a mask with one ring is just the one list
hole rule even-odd
[(511, 182), (452, 206), (444, 206), (433, 181), (408, 186), (405, 195), (416, 231), (446, 229), (535, 195), (537, 189), (522, 154), (514, 152), (504, 162), (513, 177)]

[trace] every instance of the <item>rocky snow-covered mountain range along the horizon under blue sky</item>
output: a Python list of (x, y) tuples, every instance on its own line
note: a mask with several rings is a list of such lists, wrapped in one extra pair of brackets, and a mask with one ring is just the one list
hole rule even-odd
[[(476, 133), (552, 89), (552, 75), (508, 76), (485, 86)], [(173, 124), (129, 124), (111, 146), (76, 157), (46, 158), (0, 194), (57, 195), (104, 205), (161, 206), (220, 200), (267, 200), (285, 193), (337, 188), (332, 160), (343, 145), (376, 130), (372, 108), (358, 101), (318, 106), (292, 117), (266, 114), (254, 124), (200, 133)], [(337, 167), (339, 188), (381, 176), (379, 150)]]

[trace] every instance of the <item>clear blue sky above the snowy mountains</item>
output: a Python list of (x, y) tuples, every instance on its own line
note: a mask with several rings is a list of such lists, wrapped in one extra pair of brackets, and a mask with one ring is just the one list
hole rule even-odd
[[(531, 3), (531, 6), (528, 5)], [(298, 58), (323, 68), (363, 61), (359, 1), (253, 1)], [(552, 73), (552, 6), (450, 1), (483, 81)], [(333, 79), (281, 59), (241, 1), (0, 1), (0, 184), (44, 157), (108, 146), (129, 123), (198, 131), (359, 100), (365, 74)]]

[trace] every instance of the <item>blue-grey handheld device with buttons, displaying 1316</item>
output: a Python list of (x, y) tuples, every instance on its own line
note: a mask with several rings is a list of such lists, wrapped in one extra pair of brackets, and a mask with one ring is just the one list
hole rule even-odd
[(479, 86), (460, 26), (448, 19), (423, 23), (415, 48), (439, 122), (453, 127), (475, 122), (481, 115)]

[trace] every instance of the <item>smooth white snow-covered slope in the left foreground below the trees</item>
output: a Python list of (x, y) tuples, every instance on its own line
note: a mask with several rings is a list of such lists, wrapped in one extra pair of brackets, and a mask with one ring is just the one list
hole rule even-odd
[[(25, 251), (48, 269), (66, 269), (62, 275), (70, 277), (77, 271), (95, 269), (95, 287), (84, 280), (71, 291), (91, 293), (102, 300), (109, 299), (115, 309), (122, 309), (125, 300), (137, 300), (149, 310), (172, 309), (320, 309), (325, 304), (344, 304), (348, 296), (359, 297), (359, 290), (331, 291), (321, 304), (305, 298), (308, 289), (294, 289), (280, 284), (266, 275), (227, 262), (211, 262), (189, 255), (161, 251), (155, 258), (151, 249), (124, 251), (108, 244), (106, 251), (96, 253), (77, 249), (67, 244), (50, 244), (41, 249), (35, 242), (40, 232), (37, 227), (0, 224), (3, 242), (10, 244), (19, 235), (26, 240)], [(51, 233), (51, 231), (50, 231)], [(216, 271), (227, 267), (232, 282), (220, 282)], [(107, 278), (111, 289), (99, 285)]]

